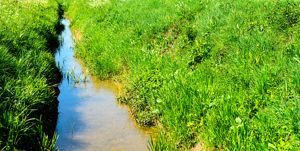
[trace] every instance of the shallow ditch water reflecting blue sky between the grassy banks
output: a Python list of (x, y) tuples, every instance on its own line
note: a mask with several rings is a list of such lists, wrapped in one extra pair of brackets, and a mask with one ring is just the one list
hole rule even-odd
[(65, 74), (59, 85), (59, 118), (56, 146), (60, 150), (148, 150), (153, 132), (140, 128), (129, 113), (128, 106), (116, 102), (122, 93), (121, 84), (100, 81), (87, 74), (86, 82), (74, 83), (67, 71), (83, 79), (86, 69), (73, 58), (69, 21), (63, 20), (64, 44), (55, 59)]

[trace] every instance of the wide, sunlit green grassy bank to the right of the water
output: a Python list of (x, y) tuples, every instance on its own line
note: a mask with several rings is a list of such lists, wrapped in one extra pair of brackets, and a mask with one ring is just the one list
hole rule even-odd
[(124, 82), (150, 150), (298, 150), (298, 1), (62, 1), (76, 57)]

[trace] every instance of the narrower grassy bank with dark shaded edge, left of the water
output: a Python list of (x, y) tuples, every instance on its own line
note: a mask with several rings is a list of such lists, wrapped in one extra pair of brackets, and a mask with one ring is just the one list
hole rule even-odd
[(51, 0), (0, 0), (0, 150), (54, 150), (60, 10)]

